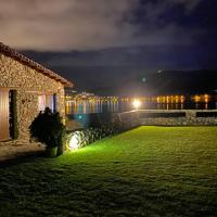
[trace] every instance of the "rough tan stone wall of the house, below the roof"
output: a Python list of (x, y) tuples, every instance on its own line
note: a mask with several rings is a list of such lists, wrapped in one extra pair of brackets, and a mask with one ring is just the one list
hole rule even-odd
[(17, 91), (18, 140), (28, 140), (28, 127), (38, 111), (38, 94), (56, 94), (56, 108), (65, 116), (64, 87), (61, 82), (0, 53), (0, 88)]

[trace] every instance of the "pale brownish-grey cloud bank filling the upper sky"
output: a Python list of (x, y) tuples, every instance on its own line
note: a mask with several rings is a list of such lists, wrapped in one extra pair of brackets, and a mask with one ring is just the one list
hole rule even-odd
[(188, 14), (200, 3), (201, 0), (0, 0), (0, 40), (18, 49), (55, 51), (187, 44), (192, 43), (200, 29), (186, 34), (173, 21), (161, 25), (161, 16), (175, 5)]

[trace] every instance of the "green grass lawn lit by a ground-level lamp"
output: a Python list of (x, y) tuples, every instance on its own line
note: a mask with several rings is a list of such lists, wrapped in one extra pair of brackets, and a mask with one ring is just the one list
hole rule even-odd
[(2, 168), (0, 216), (217, 216), (217, 127), (140, 127)]

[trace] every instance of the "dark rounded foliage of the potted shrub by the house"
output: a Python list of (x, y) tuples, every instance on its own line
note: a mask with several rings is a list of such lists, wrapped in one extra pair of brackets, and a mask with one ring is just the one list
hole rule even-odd
[(62, 154), (66, 136), (65, 126), (62, 123), (60, 113), (46, 107), (40, 112), (29, 127), (30, 138), (44, 143), (49, 148), (59, 146), (59, 154)]

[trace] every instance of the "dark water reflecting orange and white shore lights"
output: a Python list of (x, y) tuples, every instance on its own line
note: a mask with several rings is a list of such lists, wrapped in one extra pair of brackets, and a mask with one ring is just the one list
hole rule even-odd
[[(141, 102), (141, 110), (215, 110), (217, 102), (150, 103)], [(132, 102), (123, 101), (72, 101), (67, 102), (66, 114), (117, 113), (135, 110)]]

